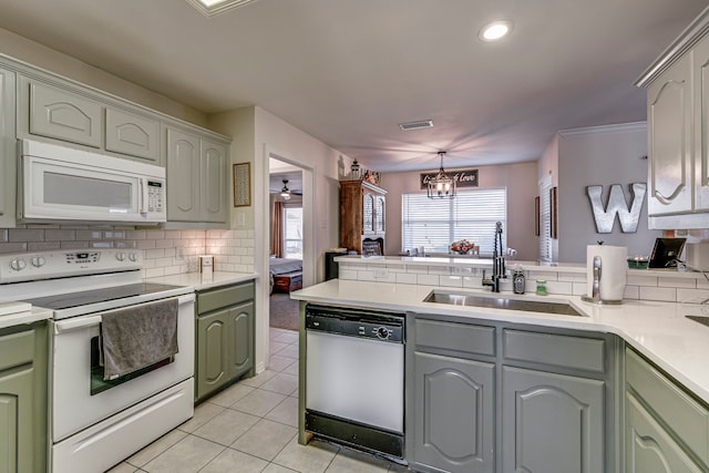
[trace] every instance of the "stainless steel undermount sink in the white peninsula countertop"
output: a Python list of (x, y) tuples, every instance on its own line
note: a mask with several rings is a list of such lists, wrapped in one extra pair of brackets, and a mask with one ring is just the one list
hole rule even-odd
[(584, 317), (566, 302), (546, 302), (542, 300), (512, 299), (503, 296), (473, 296), (431, 291), (424, 302), (450, 304), (453, 306), (485, 307), (491, 309), (523, 310), (527, 312), (553, 313), (557, 316)]

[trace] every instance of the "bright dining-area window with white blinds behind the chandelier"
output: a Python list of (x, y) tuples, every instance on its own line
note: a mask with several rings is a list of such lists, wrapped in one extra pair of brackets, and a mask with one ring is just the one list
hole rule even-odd
[(477, 245), (481, 254), (492, 255), (497, 222), (502, 222), (502, 245), (506, 248), (505, 188), (459, 191), (453, 199), (401, 196), (402, 250), (423, 247), (427, 253), (448, 253), (452, 241), (465, 238)]

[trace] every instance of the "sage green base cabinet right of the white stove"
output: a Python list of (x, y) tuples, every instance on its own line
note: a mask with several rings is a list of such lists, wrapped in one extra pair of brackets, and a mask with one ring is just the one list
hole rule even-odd
[(254, 282), (197, 291), (195, 399), (254, 371)]

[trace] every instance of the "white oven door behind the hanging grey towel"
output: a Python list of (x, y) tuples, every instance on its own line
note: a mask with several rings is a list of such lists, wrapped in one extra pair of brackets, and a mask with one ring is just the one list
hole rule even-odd
[(97, 373), (101, 313), (53, 322), (50, 385), (54, 443), (194, 376), (194, 295), (178, 297), (179, 352), (174, 361), (109, 383)]

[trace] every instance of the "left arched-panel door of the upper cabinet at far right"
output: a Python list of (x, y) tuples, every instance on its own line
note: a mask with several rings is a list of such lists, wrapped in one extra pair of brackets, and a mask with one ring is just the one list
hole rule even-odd
[(691, 210), (691, 64), (684, 58), (648, 89), (649, 215)]

